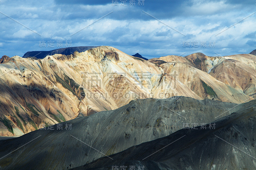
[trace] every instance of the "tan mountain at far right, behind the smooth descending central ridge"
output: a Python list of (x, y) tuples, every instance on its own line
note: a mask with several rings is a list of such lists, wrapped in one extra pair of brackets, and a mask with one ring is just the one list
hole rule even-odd
[[(255, 98), (256, 57), (250, 54), (210, 57), (203, 53), (185, 56), (194, 67)], [(232, 68), (232, 69), (231, 69)]]

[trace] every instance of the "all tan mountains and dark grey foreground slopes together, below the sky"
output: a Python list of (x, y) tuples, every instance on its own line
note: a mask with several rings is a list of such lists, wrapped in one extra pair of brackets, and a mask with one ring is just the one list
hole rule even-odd
[(255, 71), (252, 54), (4, 55), (0, 168), (255, 169)]

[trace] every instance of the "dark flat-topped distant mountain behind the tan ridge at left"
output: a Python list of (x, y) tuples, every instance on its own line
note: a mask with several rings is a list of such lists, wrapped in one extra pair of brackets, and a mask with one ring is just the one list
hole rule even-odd
[(28, 51), (23, 55), (23, 58), (35, 57), (35, 58), (42, 59), (47, 55), (54, 55), (54, 54), (71, 55), (71, 54), (74, 54), (75, 51), (78, 51), (79, 53), (81, 53), (96, 47), (99, 47), (99, 46), (68, 47), (68, 48), (54, 49), (51, 51)]

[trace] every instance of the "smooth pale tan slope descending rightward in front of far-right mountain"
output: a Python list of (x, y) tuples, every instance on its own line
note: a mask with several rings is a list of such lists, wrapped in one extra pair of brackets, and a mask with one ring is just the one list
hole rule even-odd
[(176, 80), (186, 85), (202, 99), (213, 99), (225, 102), (233, 100), (234, 102), (235, 98), (235, 100), (239, 98), (241, 100), (240, 102), (249, 101), (246, 99), (246, 95), (241, 92), (235, 97), (234, 94), (237, 92), (235, 88), (231, 88), (229, 85), (218, 81), (204, 71), (187, 64), (168, 62), (161, 64), (160, 67), (162, 67), (167, 74), (177, 74)]

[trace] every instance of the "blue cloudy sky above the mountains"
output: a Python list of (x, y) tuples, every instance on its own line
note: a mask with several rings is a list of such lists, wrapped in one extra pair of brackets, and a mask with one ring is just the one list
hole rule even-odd
[(255, 0), (0, 1), (0, 55), (112, 46), (153, 58), (250, 53)]

